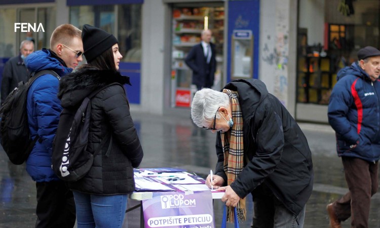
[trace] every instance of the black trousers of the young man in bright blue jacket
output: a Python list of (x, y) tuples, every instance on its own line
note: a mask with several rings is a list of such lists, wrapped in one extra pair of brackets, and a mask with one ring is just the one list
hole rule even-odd
[(72, 192), (63, 181), (36, 182), (36, 228), (72, 228), (75, 203)]

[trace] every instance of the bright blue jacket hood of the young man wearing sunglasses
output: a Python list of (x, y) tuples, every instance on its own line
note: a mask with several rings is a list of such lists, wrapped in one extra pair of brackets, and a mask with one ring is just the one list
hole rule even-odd
[(72, 69), (64, 66), (57, 58), (59, 57), (56, 56), (54, 52), (48, 49), (42, 49), (41, 51), (35, 51), (28, 55), (25, 58), (25, 65), (30, 72), (52, 69), (61, 77), (70, 73)]

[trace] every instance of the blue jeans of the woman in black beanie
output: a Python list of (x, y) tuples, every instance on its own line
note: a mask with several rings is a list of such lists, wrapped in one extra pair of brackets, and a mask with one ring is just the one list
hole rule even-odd
[(78, 228), (120, 228), (128, 195), (98, 196), (72, 191), (77, 208)]

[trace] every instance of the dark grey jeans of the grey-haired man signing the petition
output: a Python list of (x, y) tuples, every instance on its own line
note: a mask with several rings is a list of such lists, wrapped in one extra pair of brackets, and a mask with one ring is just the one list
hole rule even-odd
[[(264, 187), (265, 188), (265, 187)], [(302, 228), (305, 221), (306, 206), (293, 215), (272, 193), (253, 196), (252, 228)]]

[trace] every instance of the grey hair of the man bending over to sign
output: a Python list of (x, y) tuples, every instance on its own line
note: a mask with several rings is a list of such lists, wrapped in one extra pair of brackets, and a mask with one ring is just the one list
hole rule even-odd
[(219, 107), (230, 107), (229, 95), (204, 88), (195, 93), (192, 103), (192, 119), (198, 127), (208, 127), (216, 115), (216, 119), (220, 118), (220, 114), (216, 113)]

